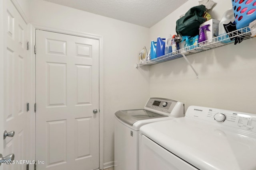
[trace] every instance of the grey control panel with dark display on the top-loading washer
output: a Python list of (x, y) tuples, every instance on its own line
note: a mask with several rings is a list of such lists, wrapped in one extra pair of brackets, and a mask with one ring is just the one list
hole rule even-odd
[(154, 111), (162, 111), (170, 114), (176, 105), (177, 101), (164, 98), (150, 98), (145, 106), (145, 109), (153, 109)]

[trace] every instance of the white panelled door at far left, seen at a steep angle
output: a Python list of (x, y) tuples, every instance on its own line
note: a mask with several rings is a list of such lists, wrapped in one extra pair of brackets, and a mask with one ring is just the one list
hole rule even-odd
[[(15, 131), (4, 139), (3, 156), (14, 153), (15, 160), (28, 160), (29, 115), (27, 79), (27, 25), (10, 0), (4, 0), (4, 129)], [(2, 132), (1, 132), (2, 134)], [(1, 135), (2, 136), (2, 135)], [(1, 137), (2, 140), (2, 137)], [(4, 169), (25, 170), (24, 164), (2, 165)]]

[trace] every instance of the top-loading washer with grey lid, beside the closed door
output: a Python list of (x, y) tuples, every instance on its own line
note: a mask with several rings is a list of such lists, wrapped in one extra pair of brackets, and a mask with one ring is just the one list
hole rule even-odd
[(164, 98), (150, 98), (144, 109), (116, 111), (115, 170), (139, 169), (139, 129), (142, 125), (182, 116), (184, 104)]

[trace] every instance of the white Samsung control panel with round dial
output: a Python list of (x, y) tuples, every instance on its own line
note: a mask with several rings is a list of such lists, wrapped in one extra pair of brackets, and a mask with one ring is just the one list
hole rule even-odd
[(256, 114), (190, 106), (186, 111), (186, 117), (256, 133)]

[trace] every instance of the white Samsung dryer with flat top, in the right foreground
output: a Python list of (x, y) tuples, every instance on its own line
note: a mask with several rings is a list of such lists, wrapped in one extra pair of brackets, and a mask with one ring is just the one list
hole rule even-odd
[(256, 170), (256, 115), (190, 106), (140, 128), (140, 170)]

